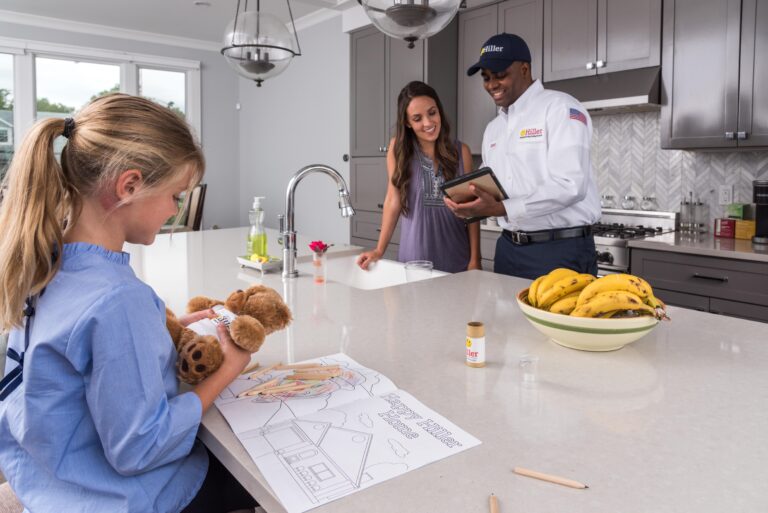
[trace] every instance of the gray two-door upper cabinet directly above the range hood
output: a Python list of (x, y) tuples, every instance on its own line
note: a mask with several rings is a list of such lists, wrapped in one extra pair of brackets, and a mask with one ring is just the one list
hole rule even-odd
[(658, 66), (661, 0), (544, 0), (544, 81)]

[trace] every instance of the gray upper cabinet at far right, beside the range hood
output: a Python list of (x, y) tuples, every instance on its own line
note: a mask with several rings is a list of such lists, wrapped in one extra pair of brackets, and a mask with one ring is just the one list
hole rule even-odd
[(661, 146), (768, 146), (768, 0), (665, 2)]

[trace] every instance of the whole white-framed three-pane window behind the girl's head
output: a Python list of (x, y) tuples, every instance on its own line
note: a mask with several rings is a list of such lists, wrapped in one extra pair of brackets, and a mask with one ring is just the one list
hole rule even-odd
[(0, 37), (0, 172), (36, 120), (112, 91), (170, 107), (200, 134), (198, 61)]

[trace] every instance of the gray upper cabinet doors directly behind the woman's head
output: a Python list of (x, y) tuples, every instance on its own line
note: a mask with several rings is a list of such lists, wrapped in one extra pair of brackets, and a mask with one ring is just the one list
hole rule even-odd
[(455, 76), (456, 23), (428, 41), (387, 37), (373, 26), (351, 34), (351, 133), (353, 157), (385, 156), (397, 122), (397, 96), (412, 80), (423, 80), (437, 91), (449, 119), (455, 119), (456, 86), (441, 79)]

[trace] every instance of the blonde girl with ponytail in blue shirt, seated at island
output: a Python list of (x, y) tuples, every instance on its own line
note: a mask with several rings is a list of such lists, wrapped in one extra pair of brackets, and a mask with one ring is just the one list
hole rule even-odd
[(163, 302), (122, 252), (152, 243), (203, 167), (183, 120), (124, 94), (38, 122), (14, 157), (0, 207), (0, 469), (28, 511), (253, 506), (239, 486), (216, 489), (225, 471), (195, 439), (250, 355), (220, 331), (221, 368), (179, 394)]

